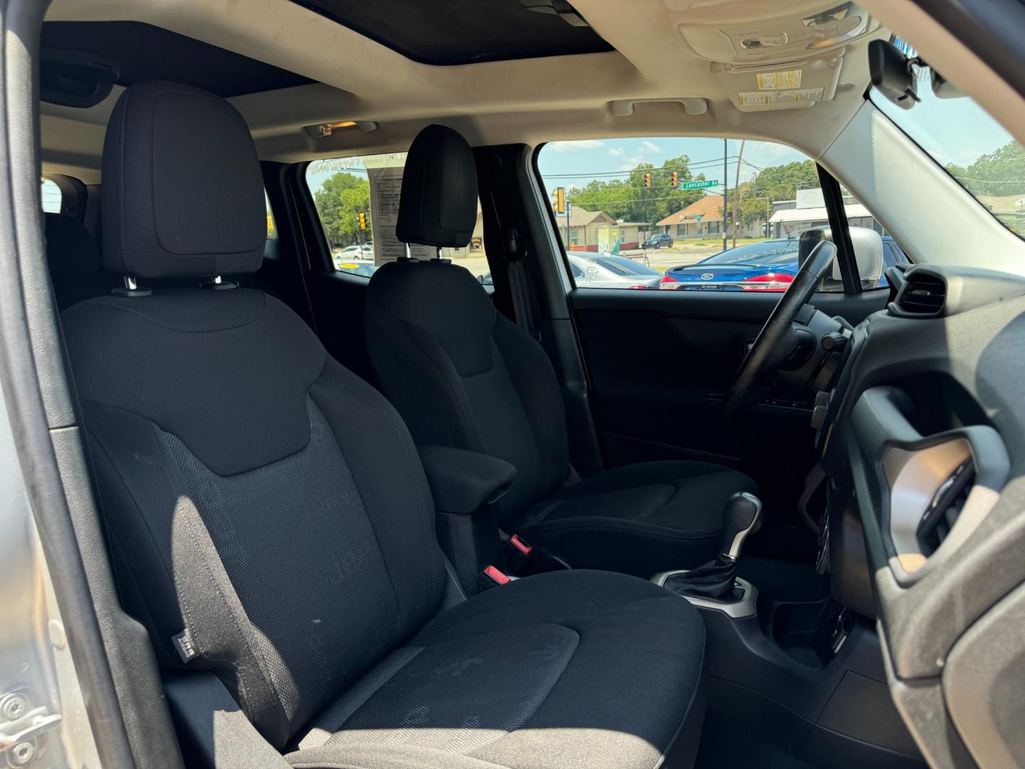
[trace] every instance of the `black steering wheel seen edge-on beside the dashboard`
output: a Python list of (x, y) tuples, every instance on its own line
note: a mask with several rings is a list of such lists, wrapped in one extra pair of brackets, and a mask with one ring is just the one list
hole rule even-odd
[(733, 383), (723, 402), (723, 410), (727, 416), (735, 416), (747, 406), (754, 392), (754, 383), (773, 364), (774, 357), (778, 355), (779, 343), (790, 330), (790, 325), (801, 312), (801, 308), (812, 298), (812, 294), (822, 281), (822, 276), (835, 256), (836, 246), (827, 240), (819, 241), (808, 254), (808, 258), (793, 277), (790, 287), (780, 297), (769, 320), (758, 331), (754, 345), (741, 361), (740, 368), (737, 369), (737, 374), (733, 377)]

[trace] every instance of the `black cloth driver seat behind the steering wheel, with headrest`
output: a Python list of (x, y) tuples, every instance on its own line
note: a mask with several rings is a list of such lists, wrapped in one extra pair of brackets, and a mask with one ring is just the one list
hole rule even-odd
[[(476, 217), (469, 146), (445, 126), (424, 128), (406, 160), (399, 240), (465, 246)], [(370, 280), (365, 316), (374, 370), (415, 441), (515, 466), (496, 505), (499, 525), (573, 568), (647, 578), (704, 563), (715, 557), (727, 499), (757, 491), (747, 476), (701, 461), (628, 464), (578, 480), (551, 362), (464, 268), (384, 265)]]

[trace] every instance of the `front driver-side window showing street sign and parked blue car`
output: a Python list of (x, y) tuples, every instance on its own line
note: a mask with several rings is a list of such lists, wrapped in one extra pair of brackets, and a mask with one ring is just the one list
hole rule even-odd
[[(560, 237), (588, 265), (583, 277), (574, 271), (581, 289), (785, 291), (802, 233), (829, 226), (815, 162), (768, 141), (555, 141), (538, 168)], [(886, 254), (881, 225), (845, 203), (852, 227), (884, 236)], [(828, 278), (822, 288), (844, 290)]]

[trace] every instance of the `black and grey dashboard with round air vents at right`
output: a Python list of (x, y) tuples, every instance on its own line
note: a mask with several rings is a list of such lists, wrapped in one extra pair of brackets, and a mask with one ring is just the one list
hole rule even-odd
[(1025, 279), (908, 270), (822, 407), (819, 561), (908, 728), (934, 766), (1025, 764)]

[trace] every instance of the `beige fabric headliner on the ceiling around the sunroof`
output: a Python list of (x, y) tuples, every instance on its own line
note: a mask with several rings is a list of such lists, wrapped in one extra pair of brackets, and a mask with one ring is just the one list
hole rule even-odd
[[(432, 122), (452, 126), (471, 145), (731, 136), (781, 141), (817, 158), (863, 103), (867, 38), (849, 46), (833, 99), (809, 110), (745, 113), (733, 106), (711, 63), (688, 45), (681, 27), (714, 29), (724, 19), (744, 23), (828, 4), (630, 0), (624, 13), (622, 0), (576, 0), (576, 9), (612, 50), (454, 66), (416, 62), (291, 0), (53, 0), (47, 21), (145, 22), (315, 81), (231, 98), (249, 123), (264, 160), (296, 162), (405, 150)], [(884, 23), (891, 15), (904, 29), (913, 24), (919, 49), (935, 63), (951, 59), (959, 71), (978, 72), (974, 54), (952, 45), (949, 35), (944, 38), (945, 33), (910, 4), (862, 0), (861, 5)], [(574, 29), (562, 19), (549, 21)], [(880, 29), (871, 37), (888, 34)], [(957, 70), (951, 64), (947, 71)], [(115, 88), (107, 100), (88, 110), (42, 106), (43, 163), (48, 172), (98, 180), (104, 131), (119, 91)], [(691, 115), (675, 102), (642, 103), (626, 117), (617, 117), (612, 109), (616, 99), (683, 97), (705, 99), (707, 112)], [(1020, 100), (980, 100), (1004, 125), (1016, 124), (1001, 112), (1018, 117)], [(343, 120), (375, 121), (379, 128), (335, 131), (320, 138), (305, 130)]]

